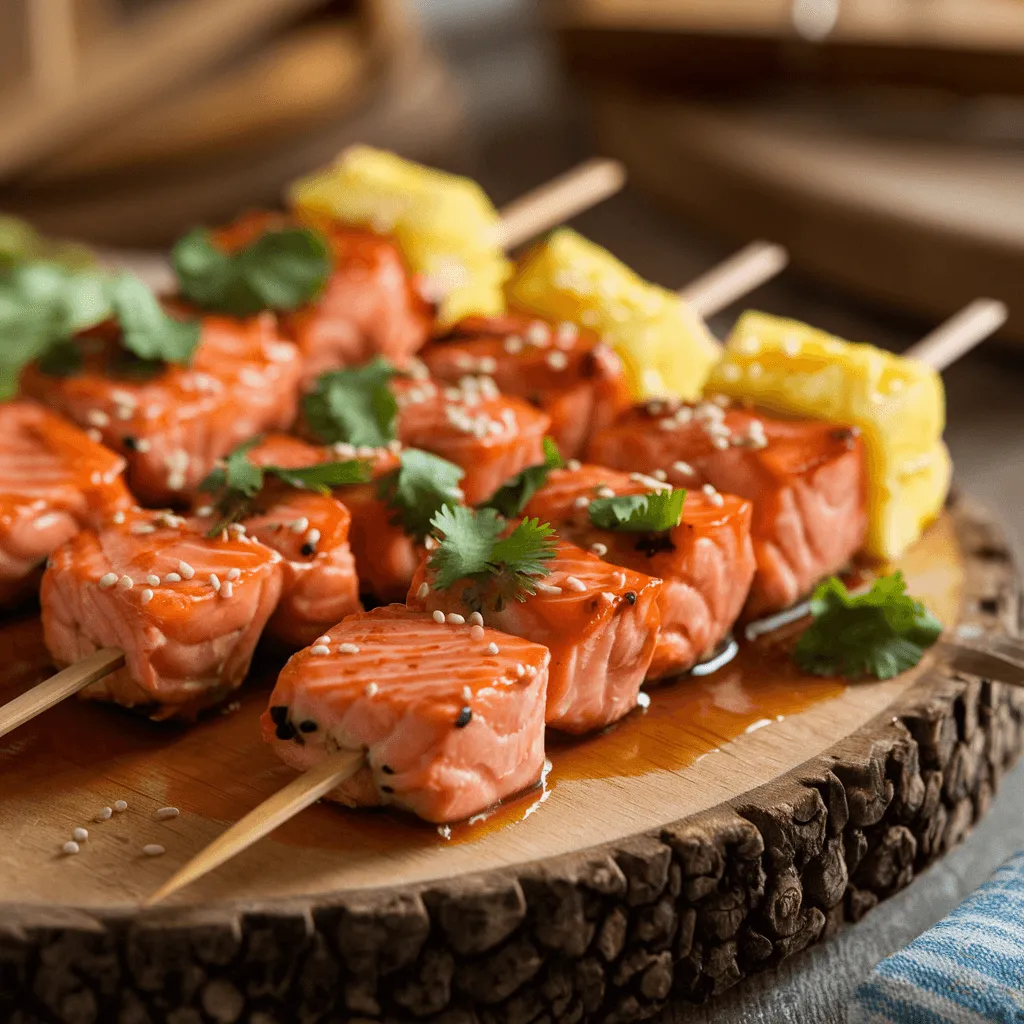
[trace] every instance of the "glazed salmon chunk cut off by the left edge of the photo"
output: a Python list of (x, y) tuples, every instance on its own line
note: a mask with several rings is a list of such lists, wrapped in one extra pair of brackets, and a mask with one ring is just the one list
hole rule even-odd
[(65, 541), (132, 507), (124, 465), (34, 401), (0, 404), (0, 605), (28, 596)]

